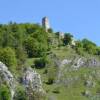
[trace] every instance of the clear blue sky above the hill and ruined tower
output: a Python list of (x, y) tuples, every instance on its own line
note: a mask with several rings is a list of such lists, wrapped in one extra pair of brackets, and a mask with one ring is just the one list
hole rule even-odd
[(0, 23), (41, 23), (44, 16), (54, 31), (100, 46), (100, 0), (0, 0)]

